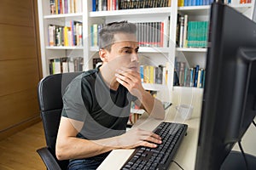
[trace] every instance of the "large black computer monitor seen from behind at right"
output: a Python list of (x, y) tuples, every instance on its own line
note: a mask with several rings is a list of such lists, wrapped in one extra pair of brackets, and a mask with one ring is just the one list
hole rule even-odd
[(256, 24), (212, 3), (195, 169), (220, 169), (255, 113)]

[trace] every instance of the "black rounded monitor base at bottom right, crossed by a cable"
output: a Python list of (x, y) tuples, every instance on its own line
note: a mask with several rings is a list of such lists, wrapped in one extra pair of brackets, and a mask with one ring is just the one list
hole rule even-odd
[[(247, 157), (247, 163), (249, 170), (256, 169), (256, 156), (252, 156), (245, 153)], [(225, 161), (223, 162), (221, 170), (247, 170), (245, 160), (239, 151), (230, 151), (230, 155), (226, 157)]]

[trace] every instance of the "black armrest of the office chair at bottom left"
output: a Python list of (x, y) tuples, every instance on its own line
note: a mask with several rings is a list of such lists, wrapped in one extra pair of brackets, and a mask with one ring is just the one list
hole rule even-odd
[(48, 170), (61, 170), (61, 167), (55, 160), (55, 157), (49, 152), (48, 147), (40, 148), (37, 152), (38, 155), (41, 156)]

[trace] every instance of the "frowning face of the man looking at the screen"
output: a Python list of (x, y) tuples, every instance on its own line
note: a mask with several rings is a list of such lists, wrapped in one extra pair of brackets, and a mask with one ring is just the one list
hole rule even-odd
[(111, 52), (108, 52), (108, 65), (111, 65), (111, 68), (115, 70), (125, 67), (138, 71), (138, 48), (136, 35), (115, 34)]

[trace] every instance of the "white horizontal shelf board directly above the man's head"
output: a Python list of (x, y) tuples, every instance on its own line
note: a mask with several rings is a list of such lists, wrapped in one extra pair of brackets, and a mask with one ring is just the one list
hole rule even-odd
[(162, 14), (168, 16), (172, 11), (172, 7), (163, 7), (163, 8), (139, 8), (139, 9), (122, 9), (122, 10), (113, 10), (113, 11), (96, 11), (90, 12), (89, 16), (94, 17), (111, 17), (111, 16), (132, 16), (132, 15), (146, 15), (148, 16), (155, 14)]

